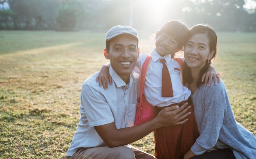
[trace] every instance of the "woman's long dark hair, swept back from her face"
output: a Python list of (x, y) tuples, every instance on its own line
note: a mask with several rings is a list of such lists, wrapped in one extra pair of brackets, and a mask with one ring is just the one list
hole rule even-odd
[[(196, 83), (196, 86), (199, 87), (200, 85), (202, 85), (201, 82), (201, 78), (203, 76), (203, 74), (207, 71), (208, 67), (211, 66), (211, 62), (212, 60), (216, 59), (217, 56), (217, 35), (216, 32), (209, 26), (209, 25), (203, 25), (203, 24), (198, 24), (193, 26), (190, 29), (190, 38), (196, 34), (206, 34), (207, 38), (209, 39), (209, 47), (210, 47), (210, 52), (212, 52), (213, 50), (215, 51), (212, 58), (210, 60), (205, 61), (205, 65), (204, 67), (200, 70), (200, 74), (199, 74), (199, 78), (198, 81)], [(186, 47), (186, 45), (185, 45)], [(186, 64), (186, 62), (184, 62), (184, 71), (182, 72), (182, 76), (183, 76), (183, 83), (188, 83), (191, 84), (193, 82), (192, 79), (192, 74), (191, 74), (191, 69), (190, 67), (188, 67), (188, 65)]]

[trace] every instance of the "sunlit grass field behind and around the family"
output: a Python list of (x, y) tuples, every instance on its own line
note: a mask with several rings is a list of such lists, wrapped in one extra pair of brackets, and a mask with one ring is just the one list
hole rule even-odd
[[(79, 121), (83, 81), (108, 62), (105, 32), (0, 31), (0, 158), (64, 158)], [(141, 52), (151, 52), (139, 32)], [(236, 120), (256, 135), (256, 33), (218, 33)], [(153, 133), (132, 143), (154, 154)]]

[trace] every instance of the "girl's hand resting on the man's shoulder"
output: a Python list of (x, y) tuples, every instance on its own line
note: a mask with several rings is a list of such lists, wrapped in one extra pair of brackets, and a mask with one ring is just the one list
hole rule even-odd
[(110, 66), (110, 63), (106, 63), (105, 65), (103, 65), (96, 78), (96, 82), (99, 82), (100, 87), (102, 84), (104, 90), (108, 89), (108, 79), (109, 79), (109, 84), (112, 85), (112, 77), (109, 74), (109, 66)]

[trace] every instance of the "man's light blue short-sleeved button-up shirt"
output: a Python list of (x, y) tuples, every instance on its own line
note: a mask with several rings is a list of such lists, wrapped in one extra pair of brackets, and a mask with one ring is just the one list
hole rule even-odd
[(104, 90), (96, 83), (98, 73), (90, 76), (82, 85), (80, 121), (72, 139), (67, 156), (77, 148), (106, 146), (94, 126), (115, 122), (117, 129), (134, 125), (137, 99), (139, 97), (139, 74), (130, 74), (128, 85), (110, 66), (112, 85)]

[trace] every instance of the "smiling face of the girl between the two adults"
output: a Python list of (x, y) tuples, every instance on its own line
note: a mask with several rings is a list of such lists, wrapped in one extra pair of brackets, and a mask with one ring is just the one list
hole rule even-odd
[(175, 40), (175, 37), (166, 33), (158, 35), (155, 41), (155, 48), (160, 56), (173, 54), (178, 51), (179, 43)]

